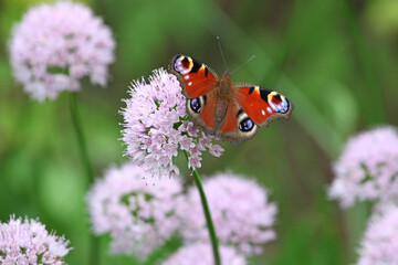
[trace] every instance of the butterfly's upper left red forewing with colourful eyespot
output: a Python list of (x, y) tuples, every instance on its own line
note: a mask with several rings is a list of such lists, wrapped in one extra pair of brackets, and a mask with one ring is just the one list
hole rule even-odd
[(181, 54), (171, 59), (169, 71), (177, 76), (188, 98), (198, 98), (212, 92), (220, 80), (209, 66)]

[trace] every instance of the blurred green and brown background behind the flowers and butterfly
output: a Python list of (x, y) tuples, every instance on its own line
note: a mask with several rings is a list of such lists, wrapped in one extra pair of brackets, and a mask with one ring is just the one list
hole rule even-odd
[[(0, 1), (0, 219), (39, 216), (74, 250), (69, 264), (88, 263), (87, 183), (72, 127), (67, 93), (44, 104), (13, 81), (7, 43), (12, 24), (38, 0)], [(177, 53), (220, 74), (255, 55), (232, 76), (287, 96), (289, 121), (272, 123), (221, 158), (205, 156), (202, 176), (233, 170), (268, 187), (279, 205), (277, 240), (251, 265), (338, 265), (356, 261), (367, 205), (348, 211), (327, 199), (331, 169), (352, 134), (398, 121), (398, 2), (396, 0), (87, 0), (114, 31), (116, 63), (105, 89), (78, 94), (96, 176), (126, 161), (121, 138), (127, 86), (167, 67)], [(181, 169), (185, 160), (179, 160)], [(189, 178), (188, 170), (182, 172)], [(109, 256), (102, 264), (140, 264)], [(161, 253), (160, 253), (161, 254)], [(159, 254), (159, 255), (160, 255)], [(153, 264), (153, 257), (146, 264)]]

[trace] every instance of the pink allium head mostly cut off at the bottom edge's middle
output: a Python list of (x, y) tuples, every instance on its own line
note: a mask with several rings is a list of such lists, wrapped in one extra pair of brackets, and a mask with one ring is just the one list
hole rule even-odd
[[(243, 256), (240, 256), (232, 247), (220, 246), (221, 264), (245, 265)], [(213, 265), (213, 255), (210, 244), (191, 244), (181, 247), (163, 265)]]

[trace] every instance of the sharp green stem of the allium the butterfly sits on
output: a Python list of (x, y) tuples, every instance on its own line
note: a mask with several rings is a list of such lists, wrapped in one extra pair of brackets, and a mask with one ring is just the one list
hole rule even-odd
[[(184, 150), (184, 153), (186, 155), (186, 158), (188, 160), (188, 158), (190, 156), (189, 152)], [(209, 230), (209, 235), (210, 235), (210, 240), (211, 240), (211, 246), (212, 246), (213, 256), (214, 256), (214, 265), (221, 265), (220, 253), (219, 253), (219, 247), (218, 247), (218, 239), (217, 239), (217, 235), (216, 235), (214, 225), (213, 225), (212, 220), (211, 220), (210, 209), (209, 209), (209, 204), (208, 204), (207, 199), (206, 199), (203, 186), (201, 183), (200, 176), (199, 176), (198, 171), (192, 170), (192, 173), (193, 173), (193, 179), (195, 179), (195, 182), (196, 182), (196, 184), (198, 187), (199, 194), (200, 194), (200, 200), (201, 200), (201, 203), (202, 203), (202, 206), (203, 206), (203, 212), (205, 212), (206, 222), (207, 222), (207, 226), (208, 226), (208, 230)]]

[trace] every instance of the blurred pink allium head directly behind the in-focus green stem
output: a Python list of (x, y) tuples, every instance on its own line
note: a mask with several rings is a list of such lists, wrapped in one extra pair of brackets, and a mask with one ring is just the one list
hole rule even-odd
[[(203, 189), (219, 240), (245, 255), (260, 254), (262, 244), (275, 239), (271, 227), (276, 206), (270, 203), (264, 188), (243, 176), (219, 173), (203, 181)], [(199, 193), (191, 188), (179, 214), (187, 241), (208, 242), (208, 230)]]

